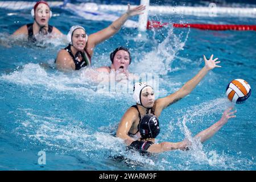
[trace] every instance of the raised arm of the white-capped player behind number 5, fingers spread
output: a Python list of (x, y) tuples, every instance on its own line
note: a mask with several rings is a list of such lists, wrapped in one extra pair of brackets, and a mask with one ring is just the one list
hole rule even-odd
[(199, 71), (199, 73), (197, 73), (195, 77), (186, 82), (182, 86), (182, 88), (177, 90), (175, 93), (156, 100), (156, 108), (158, 112), (162, 111), (164, 108), (170, 106), (171, 104), (174, 104), (175, 102), (181, 100), (181, 98), (191, 93), (192, 90), (196, 87), (196, 85), (199, 84), (199, 82), (204, 78), (205, 75), (207, 75), (208, 71), (216, 67), (221, 67), (220, 65), (217, 65), (218, 63), (220, 63), (220, 61), (217, 60), (218, 58), (213, 59), (213, 55), (210, 56), (209, 60), (207, 60), (206, 57), (204, 56), (205, 66)]

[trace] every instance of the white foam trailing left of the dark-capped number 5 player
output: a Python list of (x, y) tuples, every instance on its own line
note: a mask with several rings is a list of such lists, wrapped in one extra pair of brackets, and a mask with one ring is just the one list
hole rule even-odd
[[(125, 144), (122, 139), (113, 137), (109, 133), (95, 132), (88, 125), (84, 126), (86, 121), (69, 121), (69, 119), (60, 119), (56, 117), (44, 117), (34, 114), (32, 109), (19, 109), (27, 115), (27, 119), (20, 121), (20, 126), (16, 128), (18, 134), (22, 135), (24, 140), (30, 139), (35, 143), (46, 145), (47, 150), (59, 152), (61, 154), (82, 152), (85, 156), (93, 158), (102, 158), (103, 152), (110, 155), (122, 155), (129, 160), (138, 163), (154, 165), (154, 161), (147, 159), (139, 154), (133, 154), (125, 150)], [(93, 154), (93, 155), (92, 155)]]

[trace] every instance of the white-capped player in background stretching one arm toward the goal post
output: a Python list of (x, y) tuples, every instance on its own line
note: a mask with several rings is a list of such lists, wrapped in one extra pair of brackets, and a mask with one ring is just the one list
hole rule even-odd
[(56, 59), (57, 68), (79, 70), (82, 67), (90, 66), (94, 47), (116, 34), (128, 18), (142, 14), (144, 9), (145, 6), (143, 5), (133, 9), (130, 9), (130, 5), (128, 5), (126, 13), (115, 20), (109, 27), (89, 36), (83, 27), (71, 27), (68, 33), (69, 46), (59, 51)]

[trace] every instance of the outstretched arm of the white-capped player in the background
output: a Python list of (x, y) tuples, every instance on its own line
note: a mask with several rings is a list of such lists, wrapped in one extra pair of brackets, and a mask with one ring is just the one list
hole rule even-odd
[(90, 49), (92, 49), (98, 43), (101, 43), (104, 40), (116, 34), (120, 30), (122, 25), (126, 22), (127, 19), (129, 19), (131, 16), (143, 14), (142, 11), (144, 10), (145, 10), (144, 5), (140, 5), (131, 9), (130, 5), (128, 4), (128, 10), (126, 11), (126, 13), (123, 14), (121, 17), (119, 17), (117, 20), (115, 20), (112, 24), (110, 24), (109, 27), (106, 27), (101, 31), (98, 31), (94, 34), (89, 35), (90, 42), (88, 42), (87, 51), (89, 52)]

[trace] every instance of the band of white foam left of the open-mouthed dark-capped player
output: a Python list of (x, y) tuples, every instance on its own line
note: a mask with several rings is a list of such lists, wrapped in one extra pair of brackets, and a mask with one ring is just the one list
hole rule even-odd
[[(54, 65), (53, 60), (49, 61), (49, 63)], [(64, 73), (55, 71), (54, 69), (46, 70), (39, 64), (28, 63), (25, 64), (24, 67), (16, 69), (14, 72), (1, 75), (0, 79), (18, 85), (25, 85), (32, 88), (43, 87), (53, 92), (64, 92), (67, 94), (75, 94), (76, 96), (86, 96), (86, 98), (92, 96), (110, 97), (115, 98), (115, 100), (129, 100), (131, 98), (133, 80), (115, 83), (115, 88), (111, 92), (100, 92), (99, 83), (92, 79), (94, 73), (96, 73), (96, 75), (98, 74), (93, 68), (82, 68), (80, 71)], [(106, 74), (106, 76), (109, 76), (109, 74)], [(109, 85), (109, 82), (106, 82), (106, 86)], [(125, 90), (123, 90), (125, 94), (119, 92), (120, 89), (118, 88), (122, 85), (127, 86), (127, 88), (131, 90), (131, 93), (127, 93)], [(83, 98), (86, 99), (85, 97)]]

